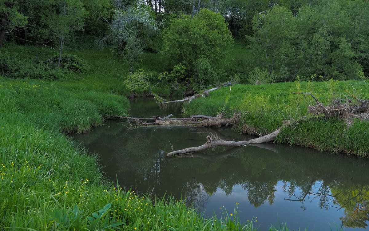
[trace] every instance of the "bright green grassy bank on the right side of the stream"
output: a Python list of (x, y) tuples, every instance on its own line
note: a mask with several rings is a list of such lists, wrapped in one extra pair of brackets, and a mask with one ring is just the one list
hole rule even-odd
[[(346, 90), (348, 91), (346, 91)], [(321, 103), (332, 99), (369, 98), (369, 84), (363, 81), (293, 82), (263, 85), (235, 85), (210, 93), (184, 105), (187, 115), (231, 115), (242, 112), (238, 129), (243, 133), (265, 135), (283, 125), (284, 120), (298, 120), (307, 116), (307, 107), (316, 102), (310, 96), (290, 92), (311, 92)], [(351, 94), (350, 94), (351, 93)], [(352, 101), (355, 103), (355, 99)], [(344, 118), (308, 116), (293, 127), (286, 126), (276, 142), (302, 145), (318, 150), (358, 156), (369, 154), (369, 123), (354, 120), (348, 126)]]

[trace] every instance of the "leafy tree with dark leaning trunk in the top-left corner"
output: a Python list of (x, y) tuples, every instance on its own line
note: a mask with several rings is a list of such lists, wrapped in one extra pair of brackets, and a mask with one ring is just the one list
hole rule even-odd
[(11, 33), (27, 25), (27, 16), (21, 13), (16, 0), (0, 0), (0, 47), (2, 47), (6, 33)]

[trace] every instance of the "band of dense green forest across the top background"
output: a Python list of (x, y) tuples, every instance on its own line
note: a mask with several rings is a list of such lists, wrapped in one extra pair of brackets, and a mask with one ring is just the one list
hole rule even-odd
[[(171, 92), (230, 78), (262, 84), (369, 75), (366, 0), (0, 0), (0, 19), (4, 77), (89, 72), (83, 58), (63, 51), (92, 47), (111, 50), (151, 82), (164, 76), (160, 85)], [(15, 43), (40, 49), (12, 49)], [(158, 68), (145, 68), (148, 53)]]

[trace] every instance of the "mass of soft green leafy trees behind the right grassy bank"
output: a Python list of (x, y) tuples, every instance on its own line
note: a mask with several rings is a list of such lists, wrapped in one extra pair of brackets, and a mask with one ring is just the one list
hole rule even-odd
[[(324, 79), (358, 79), (367, 66), (369, 6), (366, 1), (327, 0), (273, 6), (252, 20), (254, 34), (247, 36), (254, 58), (277, 81), (297, 75)], [(365, 25), (365, 26), (364, 26)], [(303, 78), (306, 81), (308, 79)]]

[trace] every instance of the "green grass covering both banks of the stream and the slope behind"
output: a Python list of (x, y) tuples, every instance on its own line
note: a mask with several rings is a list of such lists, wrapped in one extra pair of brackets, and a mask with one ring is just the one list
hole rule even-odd
[[(5, 48), (8, 54), (18, 55), (31, 54), (35, 49), (17, 45)], [(237, 51), (242, 55), (242, 51)], [(183, 201), (136, 194), (108, 182), (97, 158), (76, 146), (66, 134), (87, 132), (115, 115), (129, 114), (127, 96), (131, 92), (123, 79), (130, 67), (108, 50), (75, 50), (68, 54), (83, 58), (89, 67), (87, 71), (63, 72), (65, 79), (48, 78), (47, 70), (42, 72), (46, 73), (44, 79), (0, 78), (3, 230), (257, 230), (254, 220), (241, 224), (237, 204), (227, 208), (232, 212), (224, 210), (221, 217), (206, 218)], [(24, 55), (23, 61), (33, 59)], [(237, 55), (229, 57), (234, 59)], [(146, 53), (142, 60), (136, 69), (145, 64), (148, 69), (162, 71), (153, 61), (154, 54)], [(231, 61), (224, 65), (237, 68)], [(159, 86), (156, 92), (170, 94), (164, 88)], [(296, 81), (233, 85), (211, 92), (210, 97), (193, 100), (183, 108), (187, 115), (228, 116), (241, 111), (237, 129), (264, 135), (282, 126), (283, 120), (307, 115), (306, 107), (314, 103), (310, 96), (290, 91), (312, 92), (327, 105), (335, 97), (349, 97), (343, 88), (359, 98), (369, 98), (369, 86), (362, 81)], [(294, 127), (286, 126), (276, 142), (366, 156), (366, 130), (366, 122), (355, 121), (348, 127), (339, 118), (308, 118)], [(279, 226), (270, 230), (288, 230), (286, 224)]]

